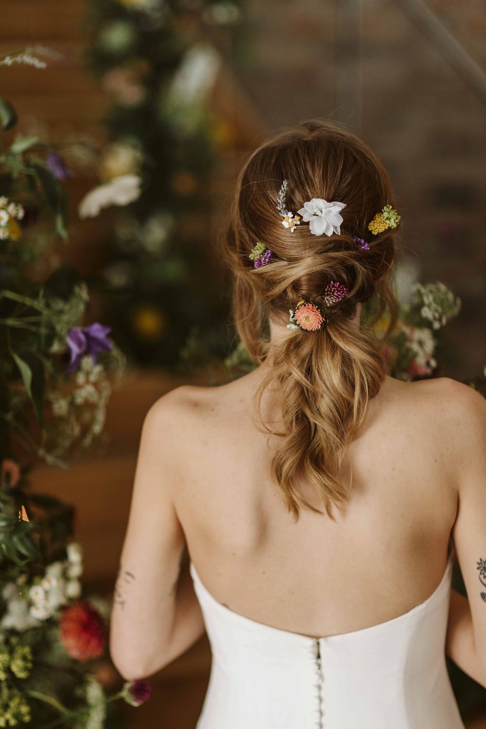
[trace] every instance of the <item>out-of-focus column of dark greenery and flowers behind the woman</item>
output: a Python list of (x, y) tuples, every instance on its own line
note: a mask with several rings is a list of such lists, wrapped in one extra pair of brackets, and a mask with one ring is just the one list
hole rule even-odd
[(114, 214), (99, 283), (114, 335), (138, 364), (178, 362), (192, 325), (219, 340), (214, 322), (223, 319), (224, 302), (207, 255), (206, 185), (232, 128), (208, 93), (221, 64), (215, 42), (234, 32), (239, 6), (240, 0), (89, 4), (87, 63), (111, 106), (98, 155), (101, 184), (79, 214), (124, 206)]

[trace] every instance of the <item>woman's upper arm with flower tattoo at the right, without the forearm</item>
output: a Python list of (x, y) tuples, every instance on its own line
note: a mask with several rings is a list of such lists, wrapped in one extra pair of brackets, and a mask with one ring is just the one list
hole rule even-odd
[(452, 539), (471, 608), (474, 642), (486, 663), (486, 401), (459, 383), (452, 386), (451, 396), (459, 496)]

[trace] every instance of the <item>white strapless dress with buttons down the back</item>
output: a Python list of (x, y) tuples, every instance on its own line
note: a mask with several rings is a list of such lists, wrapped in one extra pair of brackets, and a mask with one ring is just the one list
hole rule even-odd
[(190, 571), (213, 655), (197, 729), (464, 729), (444, 654), (452, 553), (426, 601), (325, 638), (250, 620)]

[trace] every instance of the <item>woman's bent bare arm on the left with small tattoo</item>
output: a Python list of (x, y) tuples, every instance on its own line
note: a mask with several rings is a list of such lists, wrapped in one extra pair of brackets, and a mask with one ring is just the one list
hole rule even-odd
[(142, 429), (111, 615), (111, 658), (126, 680), (154, 674), (204, 633), (190, 574), (179, 580), (185, 538), (172, 493), (181, 479), (181, 391), (158, 400)]

